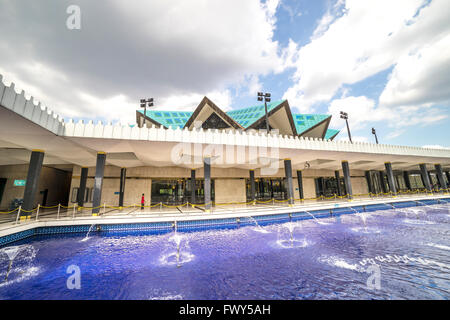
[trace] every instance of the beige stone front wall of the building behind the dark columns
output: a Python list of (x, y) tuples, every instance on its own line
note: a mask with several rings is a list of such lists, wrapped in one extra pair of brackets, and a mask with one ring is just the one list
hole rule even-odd
[[(80, 184), (81, 167), (74, 167), (74, 174), (72, 177), (71, 190), (78, 187)], [(305, 199), (315, 198), (316, 189), (314, 179), (316, 177), (334, 177), (333, 170), (317, 170), (307, 169), (303, 170), (303, 192)], [(88, 179), (86, 183), (87, 188), (92, 188), (94, 184), (95, 168), (89, 168)], [(125, 183), (124, 205), (139, 204), (141, 194), (145, 194), (146, 204), (150, 203), (151, 186), (153, 179), (174, 179), (185, 178), (189, 179), (191, 176), (191, 169), (179, 167), (136, 167), (127, 169), (127, 179)], [(298, 191), (297, 172), (293, 170), (293, 186), (294, 197), (300, 199)], [(342, 172), (341, 172), (342, 176)], [(354, 194), (365, 194), (368, 192), (367, 182), (364, 177), (364, 171), (352, 170), (352, 188)], [(105, 178), (103, 180), (102, 203), (108, 205), (118, 205), (119, 195), (115, 192), (119, 191), (120, 186), (120, 168), (114, 166), (105, 167)], [(215, 201), (216, 203), (228, 202), (245, 202), (245, 179), (249, 177), (249, 170), (235, 169), (235, 168), (211, 168), (211, 177), (215, 184)], [(255, 177), (269, 177), (261, 175), (259, 170), (255, 170)], [(270, 177), (283, 178), (284, 169), (279, 169)], [(196, 170), (196, 178), (203, 178), (203, 168)], [(85, 206), (90, 206), (91, 203), (85, 203)]]

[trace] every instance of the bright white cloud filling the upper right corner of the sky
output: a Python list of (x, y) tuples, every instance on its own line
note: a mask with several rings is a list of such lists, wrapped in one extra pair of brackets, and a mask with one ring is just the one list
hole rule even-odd
[[(338, 6), (341, 3), (339, 1)], [(448, 76), (442, 76), (450, 74), (448, 54), (439, 54), (436, 49), (427, 52), (427, 48), (439, 45), (448, 50), (447, 40), (440, 41), (450, 32), (449, 12), (450, 2), (446, 0), (433, 0), (428, 6), (424, 0), (345, 1), (343, 11), (329, 11), (324, 15), (311, 42), (299, 50), (295, 84), (286, 91), (284, 98), (302, 112), (311, 112), (316, 103), (329, 101), (345, 84), (354, 84), (396, 64), (400, 71), (407, 69), (402, 65), (411, 66), (411, 61), (405, 62), (411, 54), (424, 56), (423, 59), (412, 58), (420, 64), (415, 66), (418, 72), (424, 72), (420, 79), (428, 79), (436, 74), (435, 68), (441, 68), (433, 88), (440, 88), (439, 99), (449, 98)], [(440, 58), (433, 60), (436, 55)], [(404, 84), (403, 79), (407, 77), (402, 74), (394, 74), (392, 80), (398, 78), (398, 82)], [(420, 79), (418, 86), (424, 83)], [(442, 89), (443, 84), (446, 89)], [(383, 99), (401, 104), (393, 101), (394, 87), (395, 82), (387, 87)], [(407, 91), (399, 92), (400, 100), (408, 96), (409, 103), (415, 102), (411, 97), (416, 93)], [(430, 93), (416, 96), (423, 102), (436, 100)]]

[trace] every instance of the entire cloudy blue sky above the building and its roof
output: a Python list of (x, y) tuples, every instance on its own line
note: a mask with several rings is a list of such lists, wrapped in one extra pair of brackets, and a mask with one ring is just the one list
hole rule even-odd
[(230, 110), (268, 91), (332, 114), (337, 139), (343, 110), (354, 140), (375, 127), (382, 143), (450, 147), (448, 21), (447, 0), (4, 0), (0, 74), (65, 119), (131, 123), (147, 96)]

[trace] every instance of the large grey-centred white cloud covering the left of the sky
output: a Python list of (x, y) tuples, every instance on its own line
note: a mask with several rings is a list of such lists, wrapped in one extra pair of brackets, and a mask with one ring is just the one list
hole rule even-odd
[(0, 72), (64, 117), (134, 121), (144, 97), (189, 110), (206, 95), (227, 109), (227, 88), (257, 89), (290, 54), (273, 40), (278, 0), (78, 0), (77, 31), (69, 4), (0, 3)]

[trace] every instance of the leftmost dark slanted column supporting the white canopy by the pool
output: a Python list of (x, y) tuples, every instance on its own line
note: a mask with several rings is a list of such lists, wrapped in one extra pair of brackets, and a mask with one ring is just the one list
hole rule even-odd
[[(43, 150), (33, 150), (28, 167), (27, 181), (23, 194), (22, 209), (30, 211), (34, 206), (34, 199), (38, 191), (39, 176), (41, 175), (42, 162), (44, 161)], [(23, 216), (31, 215), (31, 212), (23, 212)]]

